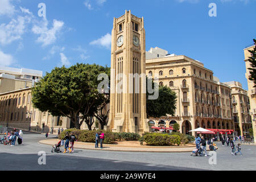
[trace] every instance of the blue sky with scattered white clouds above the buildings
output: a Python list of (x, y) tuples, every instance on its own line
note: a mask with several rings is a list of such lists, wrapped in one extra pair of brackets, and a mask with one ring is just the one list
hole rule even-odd
[(247, 89), (243, 48), (256, 38), (255, 7), (255, 0), (0, 0), (0, 65), (44, 73), (77, 62), (110, 66), (113, 17), (131, 10), (144, 17), (147, 50), (199, 60), (221, 82)]

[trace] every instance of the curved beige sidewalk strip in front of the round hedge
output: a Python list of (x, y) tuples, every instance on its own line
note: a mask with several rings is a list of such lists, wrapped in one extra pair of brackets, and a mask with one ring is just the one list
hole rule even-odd
[[(53, 146), (59, 139), (40, 140), (39, 143)], [(187, 146), (146, 146), (139, 145), (139, 142), (117, 142), (118, 144), (103, 144), (103, 148), (95, 148), (95, 143), (75, 142), (74, 148), (86, 150), (123, 151), (123, 152), (192, 152), (196, 148), (193, 144)], [(99, 144), (100, 146), (100, 144)], [(64, 148), (62, 146), (62, 148)], [(209, 150), (209, 146), (207, 146)]]

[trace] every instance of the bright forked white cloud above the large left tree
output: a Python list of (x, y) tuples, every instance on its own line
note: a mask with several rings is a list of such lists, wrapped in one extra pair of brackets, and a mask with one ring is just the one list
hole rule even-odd
[(56, 41), (56, 36), (63, 26), (64, 22), (53, 19), (52, 28), (48, 29), (48, 20), (43, 19), (43, 22), (39, 26), (34, 25), (32, 32), (40, 35), (36, 40), (37, 42), (43, 43), (43, 46), (48, 46)]

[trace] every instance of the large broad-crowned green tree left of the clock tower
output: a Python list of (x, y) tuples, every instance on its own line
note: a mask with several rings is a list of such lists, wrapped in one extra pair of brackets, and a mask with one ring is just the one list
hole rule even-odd
[(32, 103), (40, 111), (68, 117), (75, 128), (80, 129), (85, 119), (93, 116), (101, 105), (104, 94), (98, 93), (97, 77), (108, 72), (108, 67), (96, 64), (56, 67), (32, 88)]

